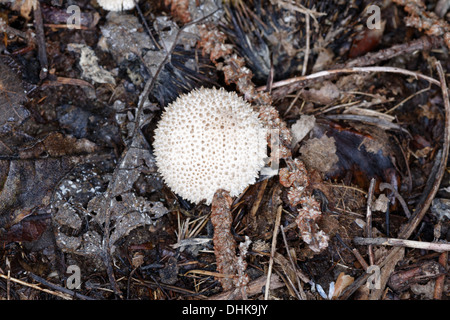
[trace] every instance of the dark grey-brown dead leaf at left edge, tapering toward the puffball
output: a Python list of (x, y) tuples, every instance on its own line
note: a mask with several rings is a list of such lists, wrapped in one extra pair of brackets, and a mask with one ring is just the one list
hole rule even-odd
[[(39, 215), (34, 211), (50, 205), (61, 178), (79, 162), (81, 155), (94, 150), (95, 145), (86, 139), (52, 133), (32, 147), (11, 155), (11, 159), (0, 160), (0, 228), (10, 232), (9, 239), (28, 241), (43, 231), (46, 222), (37, 222)], [(33, 222), (27, 217), (34, 219)], [(18, 225), (22, 221), (24, 224)]]

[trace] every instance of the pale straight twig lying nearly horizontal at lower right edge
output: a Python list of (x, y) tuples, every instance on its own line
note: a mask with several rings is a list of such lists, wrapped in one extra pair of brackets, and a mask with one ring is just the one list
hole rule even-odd
[(355, 237), (353, 241), (355, 242), (355, 244), (358, 245), (407, 247), (415, 249), (433, 250), (438, 252), (450, 251), (450, 243), (423, 242), (397, 238), (361, 238), (361, 237)]

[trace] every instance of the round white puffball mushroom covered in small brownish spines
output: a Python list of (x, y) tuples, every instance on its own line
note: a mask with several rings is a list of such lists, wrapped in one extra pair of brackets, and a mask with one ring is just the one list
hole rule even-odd
[(235, 92), (201, 88), (166, 107), (153, 151), (167, 186), (210, 204), (219, 189), (237, 196), (255, 182), (267, 156), (266, 135), (258, 114)]

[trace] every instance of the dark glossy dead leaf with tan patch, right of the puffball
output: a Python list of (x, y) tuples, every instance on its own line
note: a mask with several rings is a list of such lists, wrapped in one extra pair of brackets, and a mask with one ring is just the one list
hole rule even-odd
[[(399, 186), (397, 167), (402, 168), (403, 157), (384, 130), (369, 125), (350, 128), (322, 122), (316, 124), (311, 136), (316, 140), (311, 146), (302, 147), (305, 149), (301, 148), (300, 152), (303, 156), (307, 151), (305, 163), (325, 170), (327, 178), (344, 179), (345, 184), (353, 183), (364, 189), (368, 188), (372, 177)], [(333, 138), (334, 145), (329, 139), (318, 140), (323, 136)], [(316, 149), (316, 145), (320, 149)]]

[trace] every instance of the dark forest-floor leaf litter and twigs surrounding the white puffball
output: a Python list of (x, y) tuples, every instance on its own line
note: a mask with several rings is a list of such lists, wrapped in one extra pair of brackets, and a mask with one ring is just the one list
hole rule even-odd
[[(6, 292), (2, 277), (2, 297), (59, 296), (66, 266), (77, 265), (84, 298), (448, 298), (445, 251), (355, 242), (450, 240), (450, 107), (439, 77), (449, 30), (420, 1), (383, 7), (372, 33), (362, 9), (334, 1), (81, 5), (105, 19), (45, 27), (41, 80), (37, 49), (20, 37), (30, 3), (0, 3), (5, 21), (19, 22), (0, 47), (0, 274), (56, 289)], [(43, 8), (58, 21), (62, 7)], [(38, 89), (25, 91), (23, 79)], [(268, 165), (280, 170), (235, 199), (218, 192), (213, 206), (193, 205), (159, 177), (152, 136), (168, 102), (213, 85), (236, 90), (279, 130)], [(373, 264), (381, 289), (365, 286)]]

